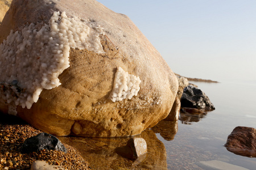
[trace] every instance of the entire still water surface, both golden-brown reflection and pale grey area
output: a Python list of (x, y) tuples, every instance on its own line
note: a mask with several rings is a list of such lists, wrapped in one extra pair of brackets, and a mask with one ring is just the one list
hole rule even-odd
[(148, 153), (132, 162), (115, 153), (129, 138), (61, 137), (79, 150), (93, 169), (255, 169), (256, 158), (224, 147), (236, 126), (256, 128), (256, 84), (199, 83), (216, 108), (205, 115), (181, 114), (177, 122), (161, 121), (141, 135)]

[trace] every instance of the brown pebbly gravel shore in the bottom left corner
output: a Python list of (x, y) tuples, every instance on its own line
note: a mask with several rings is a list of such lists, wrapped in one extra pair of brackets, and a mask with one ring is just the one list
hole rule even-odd
[(90, 169), (88, 163), (75, 148), (65, 145), (67, 153), (42, 150), (21, 154), (20, 147), (25, 139), (42, 131), (37, 130), (17, 117), (0, 113), (0, 169), (30, 169), (35, 160), (44, 160), (52, 165), (67, 169)]

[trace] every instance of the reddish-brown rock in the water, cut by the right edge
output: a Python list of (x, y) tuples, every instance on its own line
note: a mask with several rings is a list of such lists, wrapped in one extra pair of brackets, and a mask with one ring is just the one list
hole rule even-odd
[(237, 126), (224, 146), (234, 154), (256, 158), (256, 129)]

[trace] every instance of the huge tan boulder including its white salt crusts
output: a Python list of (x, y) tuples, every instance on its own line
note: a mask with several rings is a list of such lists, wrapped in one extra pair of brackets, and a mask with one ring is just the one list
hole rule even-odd
[(141, 133), (178, 83), (131, 20), (94, 0), (14, 0), (0, 25), (0, 109), (54, 135)]

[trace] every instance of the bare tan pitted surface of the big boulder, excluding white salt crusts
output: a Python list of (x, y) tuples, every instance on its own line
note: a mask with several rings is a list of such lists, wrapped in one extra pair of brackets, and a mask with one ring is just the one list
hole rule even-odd
[[(70, 66), (58, 77), (61, 85), (43, 89), (30, 109), (16, 107), (17, 116), (50, 134), (85, 137), (136, 135), (167, 117), (177, 94), (176, 76), (126, 15), (97, 1), (14, 0), (0, 25), (0, 43), (11, 29), (48, 24), (55, 11), (100, 25), (104, 52), (71, 48)], [(113, 102), (109, 96), (118, 67), (139, 76), (141, 83), (137, 96)], [(15, 110), (0, 94), (1, 111), (10, 108)]]

